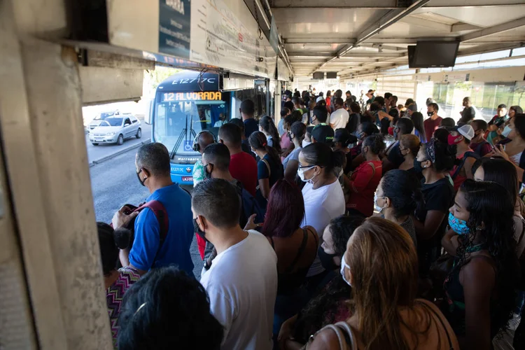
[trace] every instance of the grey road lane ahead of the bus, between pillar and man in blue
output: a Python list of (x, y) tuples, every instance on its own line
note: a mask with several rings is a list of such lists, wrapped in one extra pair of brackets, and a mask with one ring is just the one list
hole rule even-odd
[[(148, 189), (141, 186), (135, 174), (135, 153), (137, 149), (90, 168), (94, 212), (97, 221), (110, 223), (113, 214), (124, 204), (137, 205), (148, 197)], [(199, 278), (202, 261), (195, 238), (190, 253), (195, 265), (194, 274)]]

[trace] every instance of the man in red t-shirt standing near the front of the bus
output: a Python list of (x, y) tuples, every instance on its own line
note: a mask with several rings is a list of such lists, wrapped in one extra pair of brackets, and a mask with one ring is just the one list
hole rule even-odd
[(218, 132), (219, 142), (230, 150), (230, 174), (241, 181), (242, 186), (255, 197), (257, 187), (257, 162), (251, 155), (242, 151), (241, 129), (234, 124), (221, 126)]

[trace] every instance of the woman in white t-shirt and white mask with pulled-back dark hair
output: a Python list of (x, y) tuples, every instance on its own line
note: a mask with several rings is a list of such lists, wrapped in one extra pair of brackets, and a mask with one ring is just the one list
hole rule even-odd
[[(334, 174), (334, 169), (342, 167), (343, 162), (344, 153), (332, 151), (327, 144), (314, 143), (302, 148), (297, 170), (300, 179), (306, 182), (302, 188), (304, 218), (301, 227), (309, 225), (323, 232), (332, 218), (344, 214), (344, 194)], [(307, 274), (309, 290), (315, 290), (326, 273), (316, 257)]]

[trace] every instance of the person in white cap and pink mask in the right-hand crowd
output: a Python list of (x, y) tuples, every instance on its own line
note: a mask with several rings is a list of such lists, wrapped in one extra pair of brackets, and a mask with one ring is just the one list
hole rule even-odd
[(476, 161), (474, 151), (468, 146), (475, 136), (474, 129), (468, 124), (449, 128), (449, 145), (456, 145), (456, 158), (461, 160), (460, 165), (455, 165), (450, 172), (454, 181), (454, 190), (458, 190), (466, 179), (474, 179), (472, 165)]

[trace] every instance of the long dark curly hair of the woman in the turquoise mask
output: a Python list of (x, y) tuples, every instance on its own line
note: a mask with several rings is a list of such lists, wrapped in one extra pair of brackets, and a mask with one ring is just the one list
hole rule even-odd
[(450, 274), (468, 264), (469, 248), (481, 239), (483, 249), (489, 252), (496, 267), (494, 295), (498, 297), (491, 301), (494, 303), (491, 304), (491, 335), (494, 336), (498, 330), (507, 328), (515, 307), (519, 264), (516, 241), (511, 233), (514, 232), (514, 201), (503, 186), (491, 181), (468, 179), (459, 190), (468, 202), (470, 234), (458, 237), (458, 263)]

